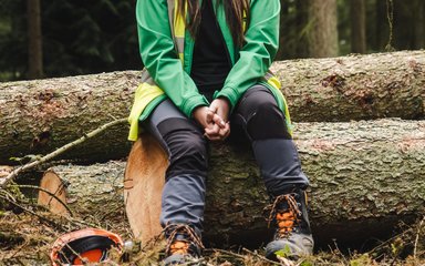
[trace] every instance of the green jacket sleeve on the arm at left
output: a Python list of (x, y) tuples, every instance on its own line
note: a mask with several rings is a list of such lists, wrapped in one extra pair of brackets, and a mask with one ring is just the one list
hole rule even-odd
[(155, 83), (188, 117), (208, 101), (198, 92), (177, 57), (168, 21), (167, 0), (137, 0), (136, 19), (142, 61)]

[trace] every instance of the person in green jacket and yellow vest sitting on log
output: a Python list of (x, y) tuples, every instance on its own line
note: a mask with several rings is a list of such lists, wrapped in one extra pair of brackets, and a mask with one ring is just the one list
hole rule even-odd
[[(305, 188), (286, 100), (269, 66), (279, 45), (279, 0), (138, 0), (145, 69), (129, 115), (168, 153), (160, 224), (165, 265), (201, 256), (210, 141), (246, 137), (271, 197), (266, 256), (311, 254)], [(230, 134), (231, 132), (231, 134)]]

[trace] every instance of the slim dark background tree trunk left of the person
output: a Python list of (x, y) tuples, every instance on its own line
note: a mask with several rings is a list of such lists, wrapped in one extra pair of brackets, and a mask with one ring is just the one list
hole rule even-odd
[(43, 49), (41, 34), (40, 1), (28, 0), (28, 78), (40, 79), (43, 76)]

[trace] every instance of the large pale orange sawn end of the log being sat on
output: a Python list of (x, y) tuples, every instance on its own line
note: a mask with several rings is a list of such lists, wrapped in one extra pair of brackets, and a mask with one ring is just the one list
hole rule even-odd
[(152, 239), (159, 225), (160, 195), (164, 186), (167, 155), (157, 142), (145, 135), (137, 141), (128, 156), (124, 178), (124, 201), (128, 223), (136, 238)]

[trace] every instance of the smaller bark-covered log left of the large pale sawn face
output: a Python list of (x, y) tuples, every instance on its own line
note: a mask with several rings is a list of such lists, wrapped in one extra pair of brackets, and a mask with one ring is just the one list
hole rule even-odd
[[(112, 225), (125, 221), (123, 176), (125, 162), (110, 161), (92, 165), (56, 165), (44, 173), (41, 187), (53, 181), (48, 191), (65, 184), (66, 197), (62, 198), (76, 218), (91, 224)], [(54, 205), (58, 206), (58, 205)], [(60, 212), (52, 209), (53, 213)]]

